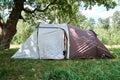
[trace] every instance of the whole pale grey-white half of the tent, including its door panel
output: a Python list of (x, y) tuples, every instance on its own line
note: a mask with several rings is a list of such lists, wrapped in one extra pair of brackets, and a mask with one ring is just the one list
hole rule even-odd
[(69, 59), (69, 31), (67, 24), (40, 24), (12, 58), (63, 59), (64, 33), (67, 36)]

